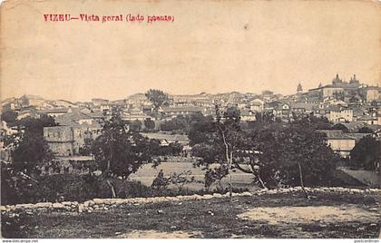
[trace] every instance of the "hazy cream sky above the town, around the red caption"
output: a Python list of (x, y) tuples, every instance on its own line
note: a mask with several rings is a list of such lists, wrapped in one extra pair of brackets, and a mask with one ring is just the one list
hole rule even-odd
[[(174, 15), (173, 23), (45, 22), (44, 14)], [(135, 92), (296, 92), (354, 73), (381, 83), (376, 1), (8, 1), (1, 99)]]

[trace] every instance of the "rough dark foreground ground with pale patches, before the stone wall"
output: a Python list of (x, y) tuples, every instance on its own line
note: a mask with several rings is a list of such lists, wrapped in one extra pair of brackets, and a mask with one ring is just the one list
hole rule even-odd
[(377, 238), (379, 195), (296, 193), (39, 213), (29, 238)]

